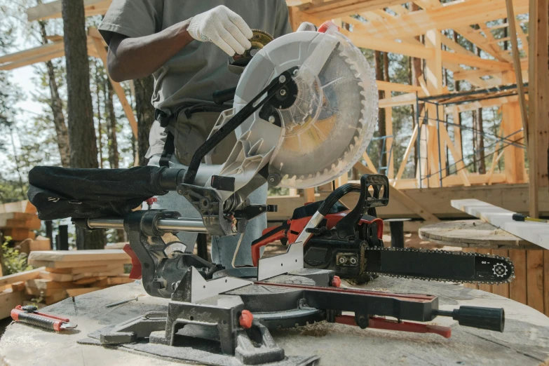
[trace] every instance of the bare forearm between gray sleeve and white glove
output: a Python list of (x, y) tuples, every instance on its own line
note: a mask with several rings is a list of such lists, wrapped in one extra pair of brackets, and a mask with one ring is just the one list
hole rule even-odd
[(187, 29), (191, 20), (172, 25), (162, 32), (139, 38), (114, 34), (109, 44), (107, 65), (114, 81), (139, 79), (156, 72), (194, 39)]

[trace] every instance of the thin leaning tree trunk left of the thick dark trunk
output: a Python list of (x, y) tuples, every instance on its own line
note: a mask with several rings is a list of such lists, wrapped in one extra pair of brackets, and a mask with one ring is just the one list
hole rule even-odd
[[(40, 33), (42, 36), (42, 44), (48, 44), (46, 38), (46, 22), (39, 22)], [(53, 125), (55, 126), (55, 135), (57, 135), (57, 148), (61, 157), (61, 165), (63, 168), (69, 168), (71, 165), (71, 151), (69, 149), (69, 131), (67, 123), (65, 123), (65, 114), (63, 114), (63, 102), (59, 96), (59, 88), (55, 81), (55, 67), (53, 62), (46, 61), (48, 69), (48, 85), (50, 87), (50, 108), (53, 116)]]

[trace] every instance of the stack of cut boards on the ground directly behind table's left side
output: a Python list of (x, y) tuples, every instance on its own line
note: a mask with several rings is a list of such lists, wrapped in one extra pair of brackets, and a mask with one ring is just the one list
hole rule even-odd
[[(130, 283), (123, 250), (67, 250), (31, 252), (29, 264), (41, 267), (39, 276), (25, 281), (25, 292), (46, 305), (106, 287)], [(1, 283), (1, 282), (0, 282)]]

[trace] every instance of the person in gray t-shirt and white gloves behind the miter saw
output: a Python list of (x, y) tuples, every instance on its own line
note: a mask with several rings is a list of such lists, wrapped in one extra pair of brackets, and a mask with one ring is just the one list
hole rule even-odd
[[(212, 94), (237, 85), (239, 76), (229, 72), (227, 60), (251, 48), (252, 29), (275, 38), (292, 32), (285, 0), (112, 1), (99, 27), (109, 45), (111, 79), (154, 75), (156, 121), (149, 135), (149, 165), (187, 168), (219, 114), (231, 107), (213, 104)], [(223, 163), (235, 142), (232, 136), (219, 144), (213, 163)], [(265, 204), (266, 197), (265, 185), (249, 198)], [(158, 204), (183, 217), (201, 217), (175, 192), (158, 197)], [(248, 223), (240, 245), (240, 236), (212, 238), (212, 262), (226, 268), (252, 265), (251, 242), (264, 228), (266, 215), (261, 215)], [(197, 234), (178, 236), (191, 252)]]

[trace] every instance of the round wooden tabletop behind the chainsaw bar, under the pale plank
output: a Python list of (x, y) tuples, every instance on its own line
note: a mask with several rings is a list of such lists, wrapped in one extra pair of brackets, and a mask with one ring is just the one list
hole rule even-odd
[(423, 240), (463, 248), (543, 249), (482, 220), (439, 222), (419, 229)]

